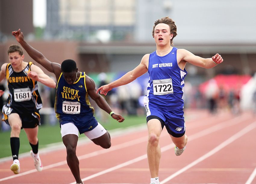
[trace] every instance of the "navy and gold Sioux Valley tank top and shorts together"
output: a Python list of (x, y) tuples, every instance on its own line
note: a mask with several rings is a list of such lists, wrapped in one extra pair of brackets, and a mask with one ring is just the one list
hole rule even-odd
[[(68, 84), (61, 73), (55, 100), (56, 117), (60, 124), (73, 122), (80, 134), (92, 130), (98, 125), (98, 121), (93, 116), (94, 109), (90, 106), (85, 81), (85, 72), (80, 72), (78, 79), (73, 84)], [(102, 133), (106, 133), (105, 129)]]

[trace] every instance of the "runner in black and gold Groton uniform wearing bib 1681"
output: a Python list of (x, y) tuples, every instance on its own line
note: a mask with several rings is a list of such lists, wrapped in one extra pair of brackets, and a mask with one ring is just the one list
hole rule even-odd
[[(56, 83), (32, 62), (24, 62), (23, 50), (18, 45), (11, 45), (8, 49), (10, 63), (4, 63), (0, 71), (0, 81), (4, 78), (8, 82), (7, 104), (3, 106), (3, 120), (11, 126), (11, 152), (13, 164), (11, 170), (14, 174), (20, 172), (18, 160), (20, 148), (20, 130), (24, 128), (34, 159), (35, 167), (42, 171), (42, 163), (38, 154), (38, 125), (40, 125), (39, 109), (42, 100), (38, 92), (37, 81), (48, 87), (55, 87)], [(0, 96), (4, 91), (0, 90)]]

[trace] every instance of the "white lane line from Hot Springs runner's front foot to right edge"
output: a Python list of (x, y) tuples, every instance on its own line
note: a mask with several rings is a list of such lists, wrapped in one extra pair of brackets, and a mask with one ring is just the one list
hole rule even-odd
[(182, 169), (178, 170), (177, 172), (173, 173), (171, 176), (169, 176), (166, 179), (164, 179), (163, 181), (161, 181), (161, 183), (164, 184), (164, 183), (170, 181), (171, 179), (173, 179), (174, 177), (178, 176), (179, 174), (185, 172), (189, 168), (195, 166), (196, 164), (200, 163), (201, 161), (205, 160), (206, 158), (210, 157), (211, 155), (214, 155), (216, 152), (220, 151), (225, 146), (227, 146), (230, 143), (232, 143), (233, 141), (237, 140), (239, 137), (243, 136), (245, 133), (248, 133), (249, 131), (253, 130), (255, 127), (256, 127), (256, 122), (253, 122), (253, 123), (249, 124), (247, 127), (245, 127), (244, 129), (242, 129), (238, 133), (231, 136), (229, 139), (227, 139), (226, 141), (221, 143), (219, 146), (212, 149), (210, 152), (206, 153), (205, 155), (196, 159), (192, 163), (188, 164), (186, 167), (183, 167)]

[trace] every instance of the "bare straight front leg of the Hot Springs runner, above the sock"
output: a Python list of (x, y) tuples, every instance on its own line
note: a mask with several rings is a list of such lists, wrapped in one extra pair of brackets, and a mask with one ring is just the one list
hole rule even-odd
[(159, 163), (161, 158), (161, 149), (159, 146), (159, 137), (161, 135), (162, 126), (158, 119), (148, 121), (148, 165), (151, 178), (158, 177)]

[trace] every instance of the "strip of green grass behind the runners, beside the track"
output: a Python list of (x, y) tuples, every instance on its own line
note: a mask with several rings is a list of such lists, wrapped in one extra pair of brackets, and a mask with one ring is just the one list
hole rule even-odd
[[(107, 130), (113, 130), (116, 128), (130, 127), (133, 125), (146, 123), (145, 116), (125, 116), (124, 118), (125, 118), (125, 121), (123, 121), (122, 123), (119, 123), (118, 121), (109, 117), (109, 122), (101, 123), (101, 125), (105, 127), (105, 129)], [(39, 133), (38, 133), (39, 149), (45, 148), (48, 144), (51, 144), (51, 143), (62, 142), (60, 130), (61, 129), (58, 123), (55, 126), (50, 126), (48, 124), (39, 126)], [(84, 136), (85, 135), (82, 134), (80, 135), (80, 138)], [(0, 158), (8, 157), (8, 156), (11, 157), (10, 131), (0, 132), (0, 140), (1, 140)], [(21, 130), (19, 154), (24, 152), (29, 152), (30, 150), (31, 150), (31, 147), (27, 140), (27, 135), (24, 130)]]

